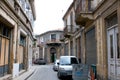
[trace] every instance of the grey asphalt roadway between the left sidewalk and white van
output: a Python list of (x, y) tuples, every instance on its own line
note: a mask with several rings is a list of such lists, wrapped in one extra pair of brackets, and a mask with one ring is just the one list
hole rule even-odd
[(53, 71), (53, 65), (36, 65), (36, 71), (27, 80), (59, 80), (57, 72)]

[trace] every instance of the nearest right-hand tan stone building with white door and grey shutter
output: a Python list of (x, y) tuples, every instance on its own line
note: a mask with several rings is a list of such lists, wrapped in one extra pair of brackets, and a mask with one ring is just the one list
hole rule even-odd
[[(120, 0), (74, 0), (72, 4), (80, 35), (79, 43), (73, 45), (80, 46), (81, 63), (96, 65), (97, 80), (120, 80)], [(68, 37), (70, 41), (71, 34)]]

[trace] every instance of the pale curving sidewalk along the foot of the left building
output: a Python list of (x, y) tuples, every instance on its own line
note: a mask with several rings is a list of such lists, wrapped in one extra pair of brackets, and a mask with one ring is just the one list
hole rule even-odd
[(33, 65), (28, 71), (24, 72), (23, 74), (19, 75), (13, 80), (26, 80), (35, 72), (35, 70), (36, 70), (36, 67)]

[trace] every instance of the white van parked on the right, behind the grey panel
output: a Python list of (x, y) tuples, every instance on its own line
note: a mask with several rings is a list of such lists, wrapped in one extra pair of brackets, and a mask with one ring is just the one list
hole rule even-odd
[(72, 64), (78, 64), (78, 59), (75, 56), (61, 56), (59, 61), (57, 76), (59, 79), (67, 76), (72, 77)]

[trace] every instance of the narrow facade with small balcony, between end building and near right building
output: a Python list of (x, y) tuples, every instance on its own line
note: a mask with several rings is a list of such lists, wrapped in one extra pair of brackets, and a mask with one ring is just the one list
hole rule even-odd
[(80, 56), (80, 27), (75, 23), (74, 2), (70, 5), (65, 15), (64, 21), (64, 55)]

